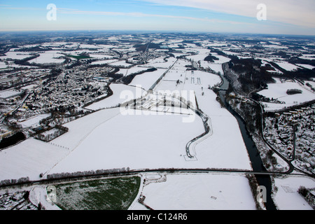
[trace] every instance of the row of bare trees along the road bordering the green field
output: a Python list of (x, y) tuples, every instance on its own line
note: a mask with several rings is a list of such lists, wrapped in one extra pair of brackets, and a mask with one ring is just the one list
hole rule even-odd
[(81, 176), (94, 176), (94, 175), (102, 175), (102, 174), (116, 174), (116, 173), (125, 173), (129, 172), (130, 168), (123, 167), (123, 168), (116, 168), (116, 169), (97, 169), (96, 171), (90, 170), (90, 171), (84, 171), (84, 172), (66, 172), (66, 173), (60, 173), (60, 174), (48, 174), (47, 179), (66, 179), (66, 178), (73, 178), (73, 177), (81, 177)]

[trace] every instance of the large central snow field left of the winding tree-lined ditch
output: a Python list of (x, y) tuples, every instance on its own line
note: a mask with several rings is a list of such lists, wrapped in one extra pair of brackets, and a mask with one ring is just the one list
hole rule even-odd
[[(99, 120), (104, 119), (101, 119), (103, 111), (92, 114), (90, 119), (90, 116), (85, 116), (84, 120), (79, 119), (80, 121), (66, 125), (69, 132), (53, 142), (64, 145), (69, 144), (71, 139), (80, 141), (50, 174), (122, 167), (198, 167), (195, 163), (187, 162), (183, 155), (186, 155), (188, 141), (204, 132), (201, 119), (183, 123), (185, 116), (175, 114), (123, 116), (119, 109), (111, 111), (118, 113), (117, 116), (112, 116), (90, 133), (84, 124), (91, 123), (90, 119), (94, 120), (95, 116)], [(77, 132), (81, 132), (81, 137), (73, 136)], [(207, 158), (204, 158), (203, 166), (207, 166)]]

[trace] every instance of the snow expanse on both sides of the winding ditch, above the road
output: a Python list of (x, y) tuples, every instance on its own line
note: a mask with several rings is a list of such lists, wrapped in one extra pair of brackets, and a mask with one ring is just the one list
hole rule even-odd
[[(180, 73), (175, 72), (170, 73), (169, 78), (175, 74), (180, 77)], [(201, 71), (194, 75), (190, 72), (190, 76), (196, 78), (196, 83), (181, 84), (182, 90), (195, 90), (200, 108), (211, 117), (214, 132), (213, 136), (197, 144), (197, 160), (186, 161), (185, 155), (188, 141), (204, 132), (199, 117), (196, 116), (191, 123), (183, 123), (183, 118), (187, 116), (169, 113), (145, 115), (144, 111), (133, 110), (130, 113), (134, 115), (124, 116), (120, 114), (120, 109), (109, 109), (65, 125), (69, 127), (69, 132), (52, 142), (73, 151), (50, 174), (122, 167), (250, 170), (237, 121), (216, 102), (216, 94), (207, 89), (209, 85), (220, 83), (220, 78)], [(191, 80), (190, 76), (188, 80)], [(200, 78), (200, 84), (197, 78)], [(175, 85), (173, 82), (173, 89), (169, 90), (174, 90)]]

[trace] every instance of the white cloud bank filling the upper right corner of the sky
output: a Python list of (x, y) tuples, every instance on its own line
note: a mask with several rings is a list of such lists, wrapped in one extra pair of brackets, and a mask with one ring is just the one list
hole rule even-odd
[(137, 0), (167, 6), (202, 8), (255, 18), (259, 3), (267, 6), (267, 20), (315, 28), (314, 0)]

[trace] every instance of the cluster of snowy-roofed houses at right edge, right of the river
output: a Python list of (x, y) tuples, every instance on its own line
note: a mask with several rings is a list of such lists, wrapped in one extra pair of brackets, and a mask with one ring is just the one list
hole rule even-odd
[(315, 104), (265, 118), (265, 138), (288, 160), (315, 173)]

